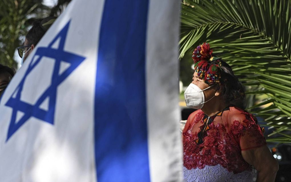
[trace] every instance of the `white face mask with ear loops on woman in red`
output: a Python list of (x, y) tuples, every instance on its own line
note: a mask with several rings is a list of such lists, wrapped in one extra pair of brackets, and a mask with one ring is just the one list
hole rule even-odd
[[(210, 87), (212, 86), (213, 85), (211, 85)], [(206, 89), (209, 89), (210, 87), (207, 87)], [(203, 89), (203, 90), (206, 90), (206, 89)], [(190, 83), (190, 85), (187, 87), (187, 89), (184, 92), (184, 97), (185, 97), (187, 107), (191, 107), (193, 109), (201, 109), (204, 103), (214, 98), (215, 95), (209, 100), (207, 100), (206, 102), (204, 102), (205, 96), (204, 96), (203, 90), (201, 90), (197, 85)]]

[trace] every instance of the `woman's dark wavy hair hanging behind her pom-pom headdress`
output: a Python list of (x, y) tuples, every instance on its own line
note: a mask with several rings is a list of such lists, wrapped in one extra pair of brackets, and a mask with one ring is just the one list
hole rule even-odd
[(239, 82), (228, 63), (221, 60), (220, 68), (220, 85), (216, 84), (216, 89), (220, 91), (226, 104), (242, 105), (245, 99), (244, 86)]

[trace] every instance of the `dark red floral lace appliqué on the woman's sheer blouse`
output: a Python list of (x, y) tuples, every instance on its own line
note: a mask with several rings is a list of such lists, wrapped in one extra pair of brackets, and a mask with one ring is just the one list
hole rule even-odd
[[(194, 123), (199, 125), (203, 118), (201, 112)], [(197, 144), (198, 132), (191, 132), (191, 128), (182, 135), (184, 151), (184, 167), (191, 169), (204, 169), (205, 166), (220, 165), (228, 172), (238, 174), (244, 171), (250, 172), (251, 166), (242, 158), (241, 151), (266, 144), (260, 127), (247, 112), (242, 112), (244, 118), (241, 121), (214, 121), (209, 125), (207, 136), (203, 143)], [(220, 117), (220, 116), (219, 116)], [(203, 122), (202, 122), (203, 123)], [(198, 126), (199, 127), (199, 126)]]

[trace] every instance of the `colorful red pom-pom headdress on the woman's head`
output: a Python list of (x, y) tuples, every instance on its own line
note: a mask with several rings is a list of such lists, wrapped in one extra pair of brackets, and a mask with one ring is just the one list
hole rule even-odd
[(198, 45), (193, 51), (194, 70), (197, 76), (203, 79), (206, 84), (219, 82), (221, 72), (221, 58), (212, 56), (212, 49), (208, 43)]

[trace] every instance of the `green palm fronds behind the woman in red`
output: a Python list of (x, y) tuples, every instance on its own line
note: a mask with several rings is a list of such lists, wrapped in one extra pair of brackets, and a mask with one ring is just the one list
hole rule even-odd
[(267, 141), (291, 143), (289, 1), (184, 0), (180, 38), (181, 61), (203, 42), (221, 54), (257, 98), (248, 110), (275, 128)]

